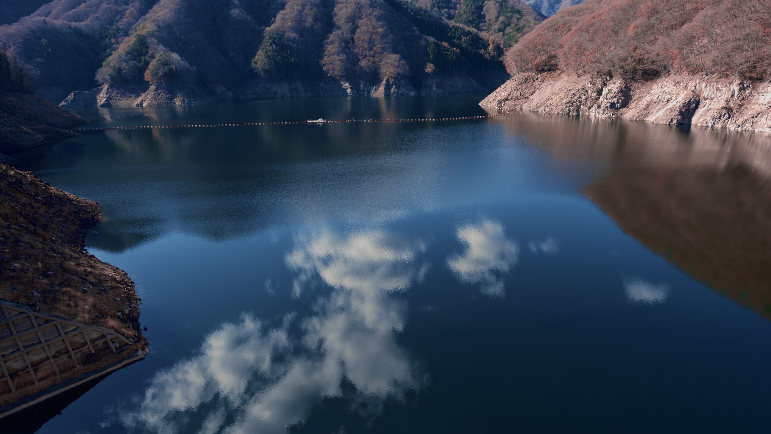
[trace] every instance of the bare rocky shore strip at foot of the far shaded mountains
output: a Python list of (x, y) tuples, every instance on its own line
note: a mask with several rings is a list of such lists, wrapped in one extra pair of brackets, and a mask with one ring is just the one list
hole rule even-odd
[(447, 93), (483, 93), (485, 88), (469, 76), (430, 78), (413, 86), (405, 79), (385, 79), (378, 83), (340, 82), (335, 79), (267, 82), (253, 80), (234, 90), (217, 86), (140, 86), (103, 85), (71, 93), (59, 107), (140, 107), (193, 106), (199, 104), (249, 101), (253, 99), (308, 98), (315, 96), (415, 96)]

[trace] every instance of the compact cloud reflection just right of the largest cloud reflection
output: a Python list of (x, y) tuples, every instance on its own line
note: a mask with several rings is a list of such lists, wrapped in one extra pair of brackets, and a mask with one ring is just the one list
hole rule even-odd
[(465, 246), (463, 254), (447, 259), (447, 266), (460, 281), (480, 284), (482, 294), (503, 298), (503, 278), (517, 264), (519, 247), (507, 239), (503, 224), (484, 220), (480, 224), (458, 227), (458, 241)]

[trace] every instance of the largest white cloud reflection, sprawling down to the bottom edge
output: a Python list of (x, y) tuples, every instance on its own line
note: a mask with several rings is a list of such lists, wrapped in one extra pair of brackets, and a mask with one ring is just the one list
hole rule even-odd
[(343, 398), (348, 411), (372, 417), (386, 400), (426, 384), (425, 370), (397, 344), (407, 306), (392, 295), (423, 278), (425, 245), (385, 231), (296, 240), (285, 257), (296, 273), (293, 291), (320, 281), (332, 287), (314, 315), (290, 313), (269, 325), (246, 314), (224, 323), (197, 356), (157, 372), (144, 395), (120, 409), (120, 423), (164, 433), (190, 432), (191, 424), (198, 432), (286, 432), (322, 399)]

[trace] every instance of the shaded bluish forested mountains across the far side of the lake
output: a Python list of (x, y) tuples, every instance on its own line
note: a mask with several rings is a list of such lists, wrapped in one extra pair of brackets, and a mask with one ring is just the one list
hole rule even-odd
[(103, 85), (70, 105), (480, 91), (505, 80), (503, 45), (543, 17), (519, 0), (476, 3), (54, 0), (0, 27), (0, 49), (52, 101)]

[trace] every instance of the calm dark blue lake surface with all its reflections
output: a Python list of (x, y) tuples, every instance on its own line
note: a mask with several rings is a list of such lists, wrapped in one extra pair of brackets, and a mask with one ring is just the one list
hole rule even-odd
[[(84, 109), (96, 125), (486, 114), (481, 96)], [(150, 355), (39, 429), (768, 432), (771, 139), (513, 113), (88, 133)]]

